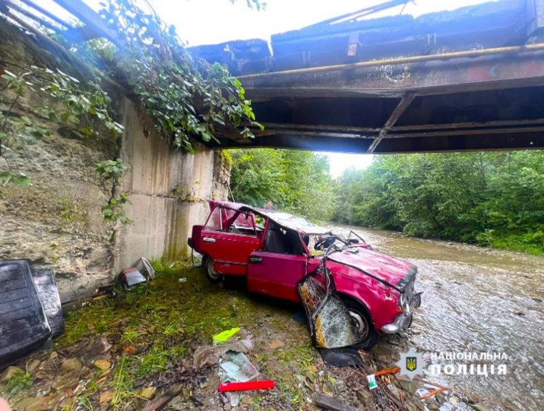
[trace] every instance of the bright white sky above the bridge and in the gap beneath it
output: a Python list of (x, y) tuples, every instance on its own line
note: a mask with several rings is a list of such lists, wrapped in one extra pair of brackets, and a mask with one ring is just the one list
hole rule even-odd
[[(85, 0), (99, 8), (101, 0)], [(145, 8), (143, 0), (137, 0)], [(267, 0), (263, 11), (250, 10), (246, 0), (147, 0), (169, 25), (176, 26), (178, 35), (189, 46), (215, 44), (228, 40), (262, 38), (272, 34), (300, 29), (327, 18), (354, 12), (385, 0)], [(415, 0), (407, 3), (403, 14), (421, 14), (454, 10), (485, 0)], [(36, 0), (49, 10), (56, 9), (51, 0)], [(373, 14), (372, 18), (399, 14), (401, 7)], [(372, 155), (327, 153), (331, 175), (338, 177), (345, 169), (364, 169), (372, 164)]]

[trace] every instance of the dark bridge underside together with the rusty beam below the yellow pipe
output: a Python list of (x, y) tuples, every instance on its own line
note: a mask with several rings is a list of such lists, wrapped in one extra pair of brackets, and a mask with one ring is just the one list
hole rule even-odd
[(243, 79), (255, 140), (353, 153), (544, 147), (544, 51)]

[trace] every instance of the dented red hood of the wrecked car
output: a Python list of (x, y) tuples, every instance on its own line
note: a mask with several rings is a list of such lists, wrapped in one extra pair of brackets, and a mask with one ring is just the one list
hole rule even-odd
[[(394, 286), (400, 292), (410, 284), (417, 273), (416, 266), (411, 262), (364, 247), (348, 247), (343, 251), (330, 253), (327, 260), (351, 266), (361, 272), (359, 275), (370, 275), (383, 284)], [(355, 276), (353, 271), (349, 276)]]

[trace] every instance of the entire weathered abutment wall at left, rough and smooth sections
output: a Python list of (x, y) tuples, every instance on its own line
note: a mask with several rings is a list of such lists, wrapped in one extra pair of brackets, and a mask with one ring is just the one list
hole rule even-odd
[[(71, 72), (62, 56), (10, 25), (0, 25), (0, 38), (0, 72), (19, 73), (21, 66), (31, 64)], [(192, 225), (207, 215), (206, 199), (226, 199), (230, 167), (220, 153), (196, 142), (195, 155), (172, 151), (158, 138), (152, 121), (116, 94), (111, 93), (115, 116), (125, 127), (121, 158), (129, 167), (121, 190), (130, 195), (127, 211), (134, 220), (117, 232), (101, 215), (111, 186), (95, 173), (97, 162), (117, 155), (112, 136), (104, 132), (85, 138), (49, 121), (36, 112), (46, 103), (36, 95), (19, 99), (12, 110), (46, 127), (49, 135), (9, 142), (12, 151), (5, 157), (11, 168), (26, 173), (33, 185), (0, 185), (0, 259), (29, 258), (38, 267), (53, 268), (64, 301), (112, 282), (141, 256), (185, 255)], [(12, 96), (0, 92), (2, 112), (11, 101)], [(0, 173), (6, 169), (1, 159)]]

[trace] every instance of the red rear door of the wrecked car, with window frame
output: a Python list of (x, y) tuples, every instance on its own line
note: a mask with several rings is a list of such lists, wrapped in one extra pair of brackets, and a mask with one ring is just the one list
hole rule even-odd
[(246, 275), (248, 259), (252, 251), (261, 247), (261, 239), (253, 234), (228, 232), (226, 221), (233, 216), (233, 210), (216, 207), (202, 229), (202, 253), (213, 259), (217, 273)]

